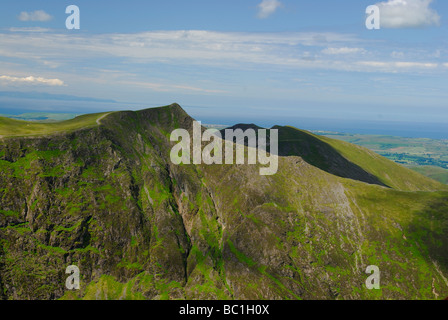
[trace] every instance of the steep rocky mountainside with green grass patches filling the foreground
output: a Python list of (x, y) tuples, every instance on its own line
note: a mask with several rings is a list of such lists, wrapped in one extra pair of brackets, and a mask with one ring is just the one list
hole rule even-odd
[[(0, 140), (1, 297), (448, 296), (446, 187), (421, 176), (392, 184), (361, 163), (350, 174), (349, 157), (324, 155), (329, 144), (314, 137), (304, 154), (280, 148), (273, 176), (258, 165), (174, 165), (169, 135), (192, 121), (174, 104)], [(69, 265), (80, 290), (65, 287)], [(365, 286), (369, 265), (379, 290)]]

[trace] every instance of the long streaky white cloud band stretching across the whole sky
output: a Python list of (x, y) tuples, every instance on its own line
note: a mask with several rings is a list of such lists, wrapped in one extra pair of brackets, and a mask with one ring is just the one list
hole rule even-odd
[[(324, 41), (325, 40), (325, 41)], [(22, 59), (36, 66), (58, 68), (68, 65), (90, 65), (92, 59), (118, 58), (129, 66), (131, 73), (139, 74), (140, 64), (185, 64), (201, 67), (225, 67), (232, 70), (288, 68), (294, 70), (342, 70), (348, 72), (446, 72), (439, 61), (428, 55), (434, 49), (404, 52), (401, 47), (387, 43), (369, 47), (370, 43), (352, 34), (316, 32), (215, 32), (206, 30), (150, 31), (130, 34), (67, 35), (58, 33), (0, 33), (1, 57)], [(395, 51), (392, 54), (391, 51)], [(67, 56), (67, 52), (70, 55)], [(406, 57), (406, 59), (404, 59)], [(108, 59), (105, 59), (108, 60)], [(405, 61), (405, 62), (403, 62)], [(114, 68), (107, 63), (102, 69)], [(132, 69), (134, 68), (134, 69)], [(27, 75), (29, 66), (22, 70), (2, 70), (0, 74)], [(34, 69), (36, 70), (36, 69)], [(42, 72), (46, 72), (42, 69)], [(104, 74), (91, 78), (97, 79)], [(20, 72), (20, 73), (19, 73)], [(38, 71), (40, 72), (40, 71)], [(66, 74), (58, 76), (67, 78)], [(79, 76), (78, 76), (79, 78)], [(133, 77), (125, 76), (123, 81)], [(110, 81), (105, 78), (104, 83)], [(120, 79), (121, 80), (121, 79)], [(132, 79), (135, 80), (135, 79)], [(139, 79), (156, 91), (187, 90), (211, 92), (202, 84), (160, 84)], [(153, 83), (154, 82), (154, 83)]]

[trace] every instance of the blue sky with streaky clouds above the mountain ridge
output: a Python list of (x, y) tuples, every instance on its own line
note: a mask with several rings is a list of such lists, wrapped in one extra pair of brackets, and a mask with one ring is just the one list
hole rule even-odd
[(0, 114), (178, 102), (221, 123), (447, 123), (447, 16), (442, 0), (2, 1)]

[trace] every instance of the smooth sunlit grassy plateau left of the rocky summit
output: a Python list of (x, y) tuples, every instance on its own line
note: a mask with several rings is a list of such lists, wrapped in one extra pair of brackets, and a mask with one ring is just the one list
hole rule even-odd
[(0, 117), (0, 136), (38, 136), (78, 130), (97, 125), (97, 120), (106, 114), (107, 112), (85, 114), (71, 120), (54, 123), (38, 123)]

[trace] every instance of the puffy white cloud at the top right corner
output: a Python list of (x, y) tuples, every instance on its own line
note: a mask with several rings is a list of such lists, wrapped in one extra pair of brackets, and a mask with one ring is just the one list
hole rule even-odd
[(377, 3), (381, 28), (415, 28), (440, 24), (432, 0), (388, 0)]

